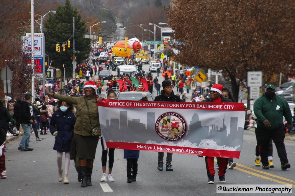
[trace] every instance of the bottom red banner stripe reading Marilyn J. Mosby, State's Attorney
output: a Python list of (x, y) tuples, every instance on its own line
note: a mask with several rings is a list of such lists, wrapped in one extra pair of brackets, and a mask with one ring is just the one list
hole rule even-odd
[(213, 150), (213, 149), (200, 149), (200, 148), (188, 148), (182, 146), (167, 146), (158, 144), (140, 144), (140, 143), (128, 143), (128, 142), (114, 142), (107, 141), (106, 146), (108, 148), (128, 149), (128, 150), (145, 150), (155, 152), (170, 152), (177, 154), (192, 154), (198, 156), (207, 157), (225, 157), (225, 158), (240, 158), (240, 151), (230, 150)]

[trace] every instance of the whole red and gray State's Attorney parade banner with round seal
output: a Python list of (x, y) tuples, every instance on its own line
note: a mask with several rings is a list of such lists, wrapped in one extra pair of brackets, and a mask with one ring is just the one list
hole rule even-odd
[(243, 103), (98, 101), (108, 148), (239, 158)]

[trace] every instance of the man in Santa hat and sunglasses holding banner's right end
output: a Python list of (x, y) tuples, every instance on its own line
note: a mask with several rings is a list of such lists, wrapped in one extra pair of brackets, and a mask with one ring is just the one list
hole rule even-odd
[[(230, 99), (225, 98), (222, 96), (222, 84), (214, 84), (210, 89), (210, 98), (205, 99), (203, 102), (232, 102)], [(247, 110), (246, 106), (243, 106), (245, 110)], [(206, 162), (206, 169), (207, 169), (207, 176), (208, 176), (208, 184), (214, 184), (214, 157), (205, 157)], [(226, 172), (228, 163), (228, 158), (219, 158), (219, 169), (218, 169), (218, 176), (219, 176), (219, 182), (225, 183), (225, 177), (224, 174)]]

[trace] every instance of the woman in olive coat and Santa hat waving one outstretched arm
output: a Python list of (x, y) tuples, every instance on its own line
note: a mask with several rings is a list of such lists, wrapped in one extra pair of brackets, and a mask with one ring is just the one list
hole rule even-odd
[(77, 105), (77, 120), (74, 127), (74, 142), (76, 145), (76, 156), (79, 158), (81, 171), (81, 187), (91, 186), (91, 174), (93, 160), (95, 159), (96, 147), (99, 137), (92, 136), (94, 128), (100, 129), (99, 114), (97, 108), (96, 85), (93, 81), (84, 84), (84, 96), (71, 97), (53, 94), (46, 89), (49, 96)]

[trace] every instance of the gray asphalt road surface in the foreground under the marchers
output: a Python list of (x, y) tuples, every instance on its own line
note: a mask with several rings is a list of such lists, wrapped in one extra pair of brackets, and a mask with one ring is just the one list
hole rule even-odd
[[(218, 195), (217, 185), (221, 185), (215, 174), (215, 184), (207, 184), (207, 173), (204, 158), (194, 155), (173, 154), (172, 166), (174, 171), (157, 170), (157, 153), (140, 151), (138, 159), (137, 181), (127, 183), (126, 159), (123, 159), (123, 150), (115, 149), (113, 177), (115, 182), (100, 185), (101, 145), (96, 150), (92, 187), (81, 188), (77, 181), (77, 173), (71, 160), (68, 174), (69, 184), (58, 182), (58, 168), (56, 164), (56, 151), (53, 150), (54, 137), (42, 135), (42, 141), (35, 141), (31, 134), (30, 147), (33, 151), (18, 151), (21, 137), (7, 144), (6, 174), (7, 179), (0, 179), (1, 196), (78, 196), (78, 195)], [(226, 185), (281, 185), (292, 184), (295, 187), (295, 142), (286, 141), (286, 150), (291, 168), (281, 170), (275, 145), (273, 145), (273, 162), (275, 167), (262, 170), (254, 166), (255, 159), (255, 133), (244, 132), (244, 143), (240, 159), (235, 159), (237, 167), (227, 169), (225, 175)], [(165, 159), (164, 159), (165, 160)], [(64, 169), (64, 159), (63, 159)], [(218, 170), (216, 169), (216, 172)], [(103, 187), (103, 188), (102, 188)], [(105, 192), (112, 191), (112, 192)], [(294, 190), (293, 190), (294, 191)], [(226, 194), (228, 195), (228, 194)], [(233, 195), (233, 194), (230, 194)], [(259, 195), (259, 194), (235, 194)], [(276, 194), (275, 194), (276, 195)]]

